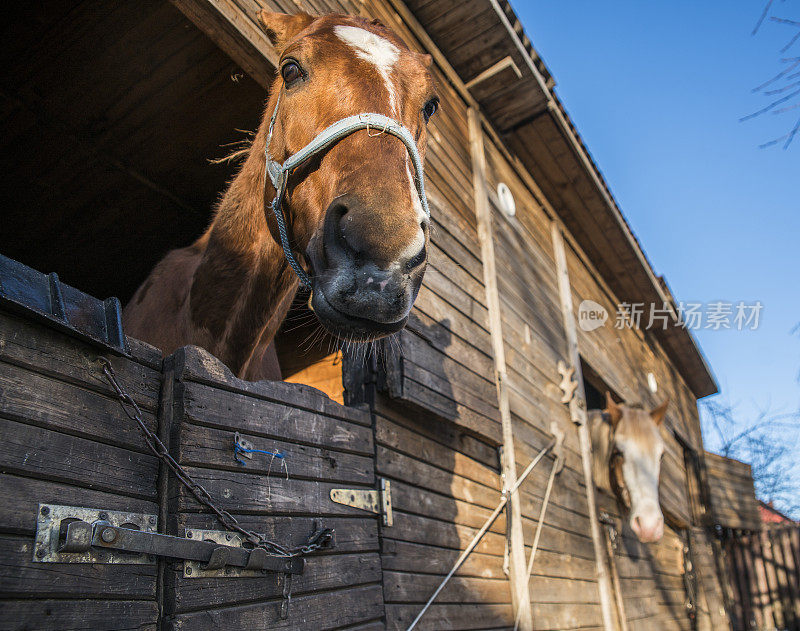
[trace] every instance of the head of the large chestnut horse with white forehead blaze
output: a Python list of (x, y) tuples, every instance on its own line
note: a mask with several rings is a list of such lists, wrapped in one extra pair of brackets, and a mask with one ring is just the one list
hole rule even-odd
[[(280, 51), (265, 115), (279, 206), (274, 213), (267, 206), (270, 231), (279, 240), (283, 213), (287, 258), (293, 263), (296, 253), (303, 261), (295, 269), (328, 330), (356, 341), (394, 333), (408, 319), (427, 264), (421, 165), (426, 125), (438, 107), (431, 58), (377, 21), (258, 17)], [(343, 133), (320, 141), (345, 121)], [(267, 187), (267, 205), (273, 195)]]

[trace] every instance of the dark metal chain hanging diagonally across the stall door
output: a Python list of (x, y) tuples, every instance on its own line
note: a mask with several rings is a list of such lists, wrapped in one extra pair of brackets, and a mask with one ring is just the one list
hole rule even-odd
[(116, 373), (114, 372), (114, 367), (111, 365), (111, 362), (105, 357), (99, 357), (98, 361), (102, 365), (103, 376), (117, 394), (122, 411), (129, 419), (136, 422), (150, 451), (169, 467), (180, 483), (191, 491), (192, 495), (194, 495), (200, 504), (210, 509), (217, 516), (217, 519), (219, 519), (225, 528), (238, 532), (255, 547), (263, 548), (270, 555), (278, 557), (303, 556), (319, 550), (330, 543), (333, 538), (333, 531), (330, 528), (322, 528), (316, 531), (309, 537), (304, 545), (293, 548), (282, 546), (279, 543), (270, 541), (266, 535), (244, 528), (238, 519), (225, 509), (216, 505), (211, 494), (178, 464), (170, 455), (164, 443), (147, 427), (142, 419), (142, 410), (136, 404), (136, 401), (133, 400), (133, 397), (131, 397), (117, 381)]

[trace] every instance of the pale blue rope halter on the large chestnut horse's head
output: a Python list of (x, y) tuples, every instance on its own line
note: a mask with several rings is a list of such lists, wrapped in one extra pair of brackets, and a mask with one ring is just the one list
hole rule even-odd
[(297, 153), (289, 156), (283, 164), (270, 158), (269, 145), (272, 141), (272, 130), (275, 126), (275, 119), (278, 116), (278, 108), (281, 104), (282, 95), (283, 92), (278, 93), (278, 100), (275, 103), (275, 110), (272, 112), (272, 117), (269, 121), (267, 142), (264, 148), (264, 153), (267, 159), (264, 185), (266, 186), (266, 178), (269, 177), (272, 185), (275, 187), (275, 199), (272, 200), (271, 206), (272, 212), (275, 215), (275, 221), (278, 223), (278, 234), (281, 238), (281, 247), (283, 248), (283, 253), (286, 256), (286, 260), (289, 262), (289, 265), (294, 270), (295, 274), (297, 274), (300, 282), (306, 287), (310, 288), (311, 279), (297, 262), (297, 259), (292, 252), (291, 245), (289, 244), (289, 235), (286, 230), (286, 218), (283, 214), (282, 208), (289, 176), (292, 174), (292, 171), (294, 171), (310, 157), (325, 151), (328, 149), (328, 147), (335, 145), (342, 138), (345, 138), (353, 132), (361, 129), (374, 129), (377, 132), (376, 135), (389, 134), (390, 136), (394, 136), (405, 145), (406, 150), (411, 157), (411, 161), (414, 163), (417, 193), (419, 194), (419, 200), (422, 204), (422, 210), (425, 212), (427, 217), (431, 216), (431, 211), (428, 208), (428, 199), (425, 196), (425, 176), (422, 168), (422, 158), (419, 155), (417, 144), (414, 142), (414, 136), (406, 127), (398, 123), (393, 118), (389, 118), (383, 114), (369, 113), (348, 116), (347, 118), (343, 118), (335, 122), (333, 125), (327, 127), (322, 132), (317, 134), (317, 136), (310, 143), (300, 149), (300, 151)]

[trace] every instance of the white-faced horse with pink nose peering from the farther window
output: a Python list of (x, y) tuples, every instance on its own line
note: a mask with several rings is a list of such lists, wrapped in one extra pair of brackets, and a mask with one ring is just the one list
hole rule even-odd
[(665, 445), (659, 426), (668, 404), (665, 401), (648, 412), (636, 405), (617, 404), (606, 392), (606, 409), (589, 411), (595, 484), (616, 495), (643, 543), (664, 535), (658, 478)]

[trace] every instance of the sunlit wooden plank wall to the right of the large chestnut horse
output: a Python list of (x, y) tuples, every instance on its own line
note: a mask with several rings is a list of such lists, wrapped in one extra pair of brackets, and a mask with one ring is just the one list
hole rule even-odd
[[(398, 16), (392, 1), (233, 0), (224, 10), (240, 25), (238, 35), (223, 34), (218, 39), (234, 58), (244, 58), (252, 53), (248, 47), (263, 45), (255, 34), (245, 44), (237, 43), (237, 37), (245, 37), (242, 33), (257, 30), (254, 15), (258, 8), (344, 11), (380, 18), (409, 45), (424, 50), (418, 33)], [(207, 11), (211, 3), (181, 0), (176, 4), (203, 28), (203, 11), (193, 11), (197, 7)], [(444, 4), (439, 8), (445, 11)], [(380, 362), (351, 366), (352, 374), (345, 375), (345, 387), (350, 388), (346, 397), (371, 405), (376, 472), (393, 485), (395, 523), (380, 532), (385, 621), (392, 629), (405, 628), (413, 619), (497, 504), (502, 487), (498, 465), (502, 433), (474, 210), (469, 104), (447, 68), (434, 65), (433, 71), (442, 107), (429, 128), (426, 161), (433, 214), (429, 269), (407, 329), (386, 345)], [(258, 77), (263, 83), (263, 75)], [(517, 205), (516, 217), (509, 219), (497, 210), (490, 192), (513, 447), (519, 469), (550, 439), (552, 422), (567, 432), (565, 468), (556, 481), (530, 584), (534, 624), (537, 629), (599, 628), (602, 618), (577, 434), (566, 407), (559, 403), (557, 364), (568, 361), (568, 353), (556, 283), (552, 211), (547, 200), (537, 196), (530, 178), (518, 172), (513, 157), (494, 134), (486, 134), (484, 145), (490, 191), (498, 182), (505, 182)], [(703, 531), (698, 534), (692, 528), (703, 525), (703, 507), (697, 506), (699, 481), (686, 465), (687, 452), (699, 453), (702, 464), (696, 404), (651, 336), (613, 327), (616, 298), (567, 237), (575, 311), (582, 300), (591, 299), (604, 305), (611, 316), (601, 329), (579, 330), (583, 359), (610, 389), (630, 402), (654, 406), (666, 396), (671, 401), (664, 428), (668, 451), (662, 500), (670, 520), (664, 540), (658, 545), (638, 544), (615, 503), (610, 498), (603, 500), (620, 532), (615, 561), (625, 615), (632, 628), (649, 629), (657, 623), (659, 628), (688, 629), (683, 546), (692, 536), (703, 543), (694, 546), (703, 598), (711, 602), (708, 594), (719, 591), (710, 570), (711, 548), (702, 540)], [(646, 385), (648, 372), (653, 372), (659, 385), (655, 395)], [(521, 488), (527, 546), (533, 538), (550, 462), (545, 459)], [(513, 626), (504, 572), (505, 534), (506, 524), (498, 520), (428, 612), (421, 628)], [(711, 613), (703, 621), (705, 628), (721, 628), (725, 622), (719, 607), (706, 609)]]

